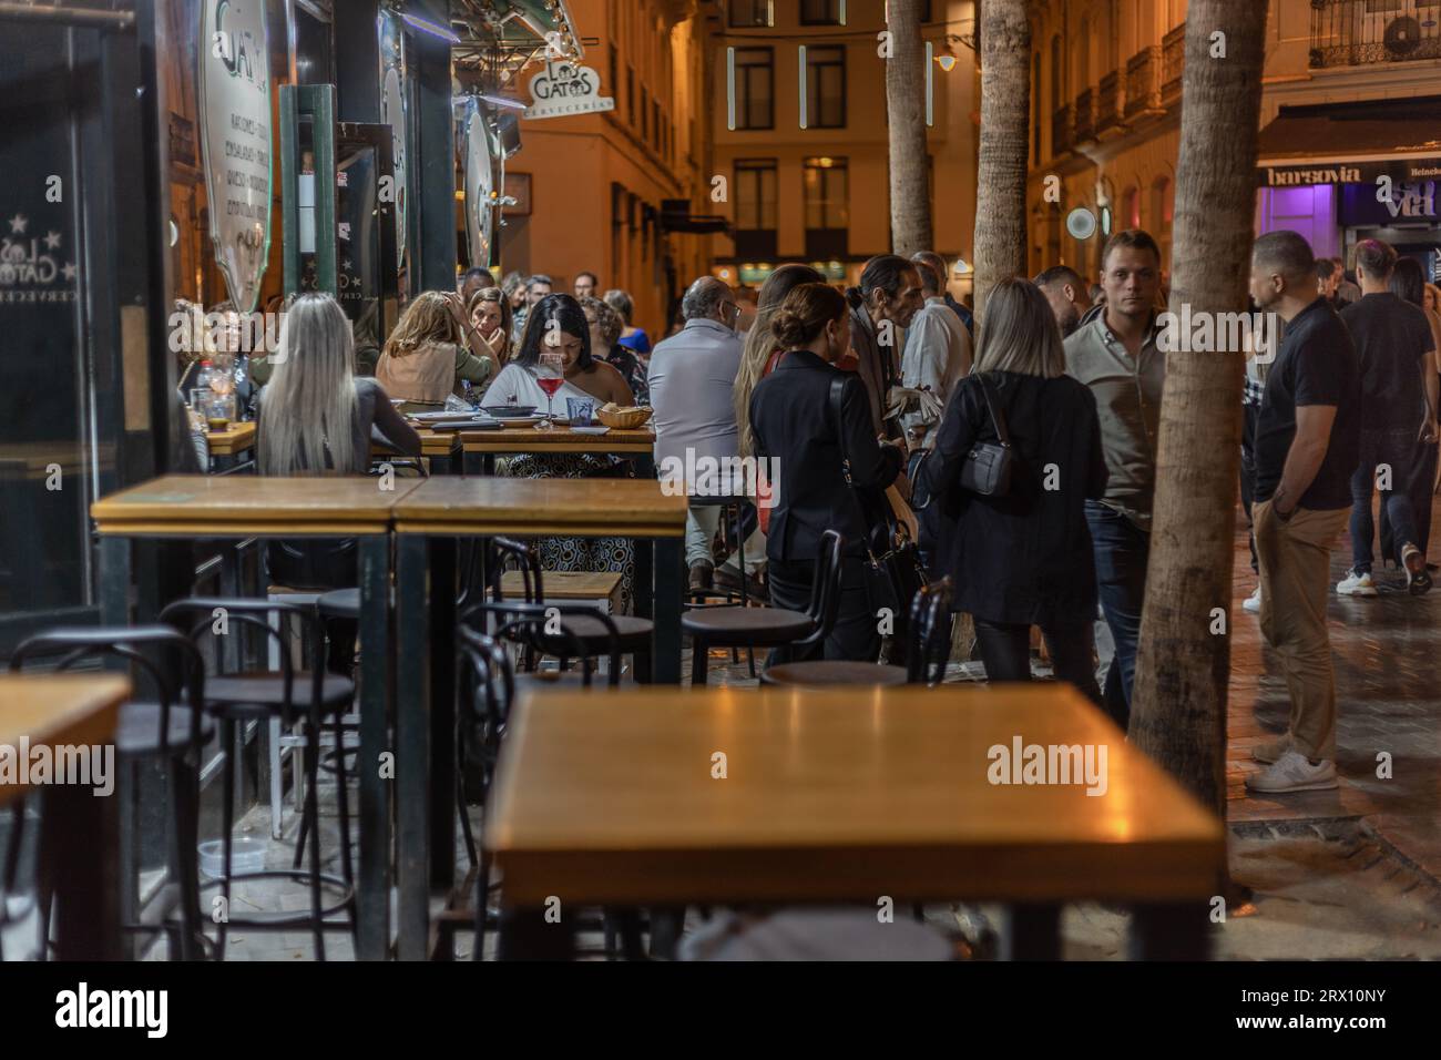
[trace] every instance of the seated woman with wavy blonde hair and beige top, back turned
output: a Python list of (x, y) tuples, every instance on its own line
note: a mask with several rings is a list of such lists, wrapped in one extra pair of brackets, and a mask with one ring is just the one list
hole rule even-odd
[(454, 291), (422, 291), (405, 307), (375, 366), (380, 385), (405, 402), (402, 411), (444, 408), (447, 395), (465, 394), (464, 384), (480, 385), (494, 375), (491, 356), (465, 349), (464, 312)]

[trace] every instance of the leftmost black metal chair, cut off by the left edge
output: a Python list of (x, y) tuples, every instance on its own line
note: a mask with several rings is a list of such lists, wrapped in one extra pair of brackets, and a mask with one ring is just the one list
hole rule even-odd
[[(150, 649), (153, 655), (147, 655)], [(166, 773), (170, 795), (169, 865), (164, 888), (174, 888), (180, 907), (179, 927), (169, 917), (159, 923), (127, 923), (130, 933), (170, 935), (170, 958), (193, 960), (205, 953), (200, 919), (200, 875), (196, 844), (200, 813), (200, 753), (215, 734), (215, 723), (203, 711), (205, 662), (195, 645), (169, 626), (128, 629), (52, 629), (20, 643), (10, 656), (10, 672), (26, 662), (61, 656), (55, 669), (66, 671), (81, 662), (118, 658), (143, 672), (154, 685), (154, 701), (131, 699), (120, 708), (115, 725), (115, 756), (130, 767), (156, 761)], [(23, 813), (17, 815), (17, 828)], [(12, 834), (12, 855), (19, 855), (19, 831)], [(138, 858), (135, 858), (138, 861)], [(6, 860), (6, 880), (0, 894), (14, 887), (14, 861)], [(161, 894), (164, 894), (164, 888)], [(128, 890), (128, 888), (127, 888)], [(40, 911), (40, 953), (46, 949), (49, 888), (37, 888)], [(163, 900), (169, 904), (169, 898)]]

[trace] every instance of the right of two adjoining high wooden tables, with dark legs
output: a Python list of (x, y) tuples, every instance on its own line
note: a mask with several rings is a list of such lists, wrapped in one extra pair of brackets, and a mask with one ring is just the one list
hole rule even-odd
[(663, 495), (654, 479), (435, 477), (396, 503), (402, 959), (425, 956), (431, 890), (454, 880), (455, 538), (634, 538), (635, 610), (656, 624), (654, 681), (677, 685), (684, 529), (686, 498)]

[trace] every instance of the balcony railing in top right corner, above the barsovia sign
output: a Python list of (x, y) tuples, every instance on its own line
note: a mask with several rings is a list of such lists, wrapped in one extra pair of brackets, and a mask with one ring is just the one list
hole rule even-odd
[(1441, 58), (1437, 3), (1418, 0), (1404, 10), (1368, 12), (1376, 6), (1366, 0), (1311, 0), (1311, 68)]

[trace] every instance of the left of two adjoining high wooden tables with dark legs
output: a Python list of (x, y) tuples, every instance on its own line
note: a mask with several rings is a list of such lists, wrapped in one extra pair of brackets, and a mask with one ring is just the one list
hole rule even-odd
[(101, 548), (101, 620), (130, 626), (131, 545), (151, 538), (357, 538), (360, 568), (359, 955), (389, 949), (391, 805), (380, 777), (391, 688), (391, 511), (419, 479), (167, 474), (91, 505)]

